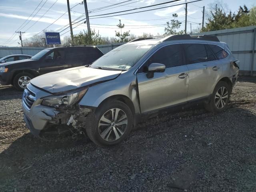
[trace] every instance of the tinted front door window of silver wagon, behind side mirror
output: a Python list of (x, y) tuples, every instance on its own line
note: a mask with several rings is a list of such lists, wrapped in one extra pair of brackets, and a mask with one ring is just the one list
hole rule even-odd
[(151, 63), (165, 64), (166, 68), (181, 66), (183, 63), (180, 45), (169, 45), (161, 48), (149, 58), (139, 72), (147, 72)]

